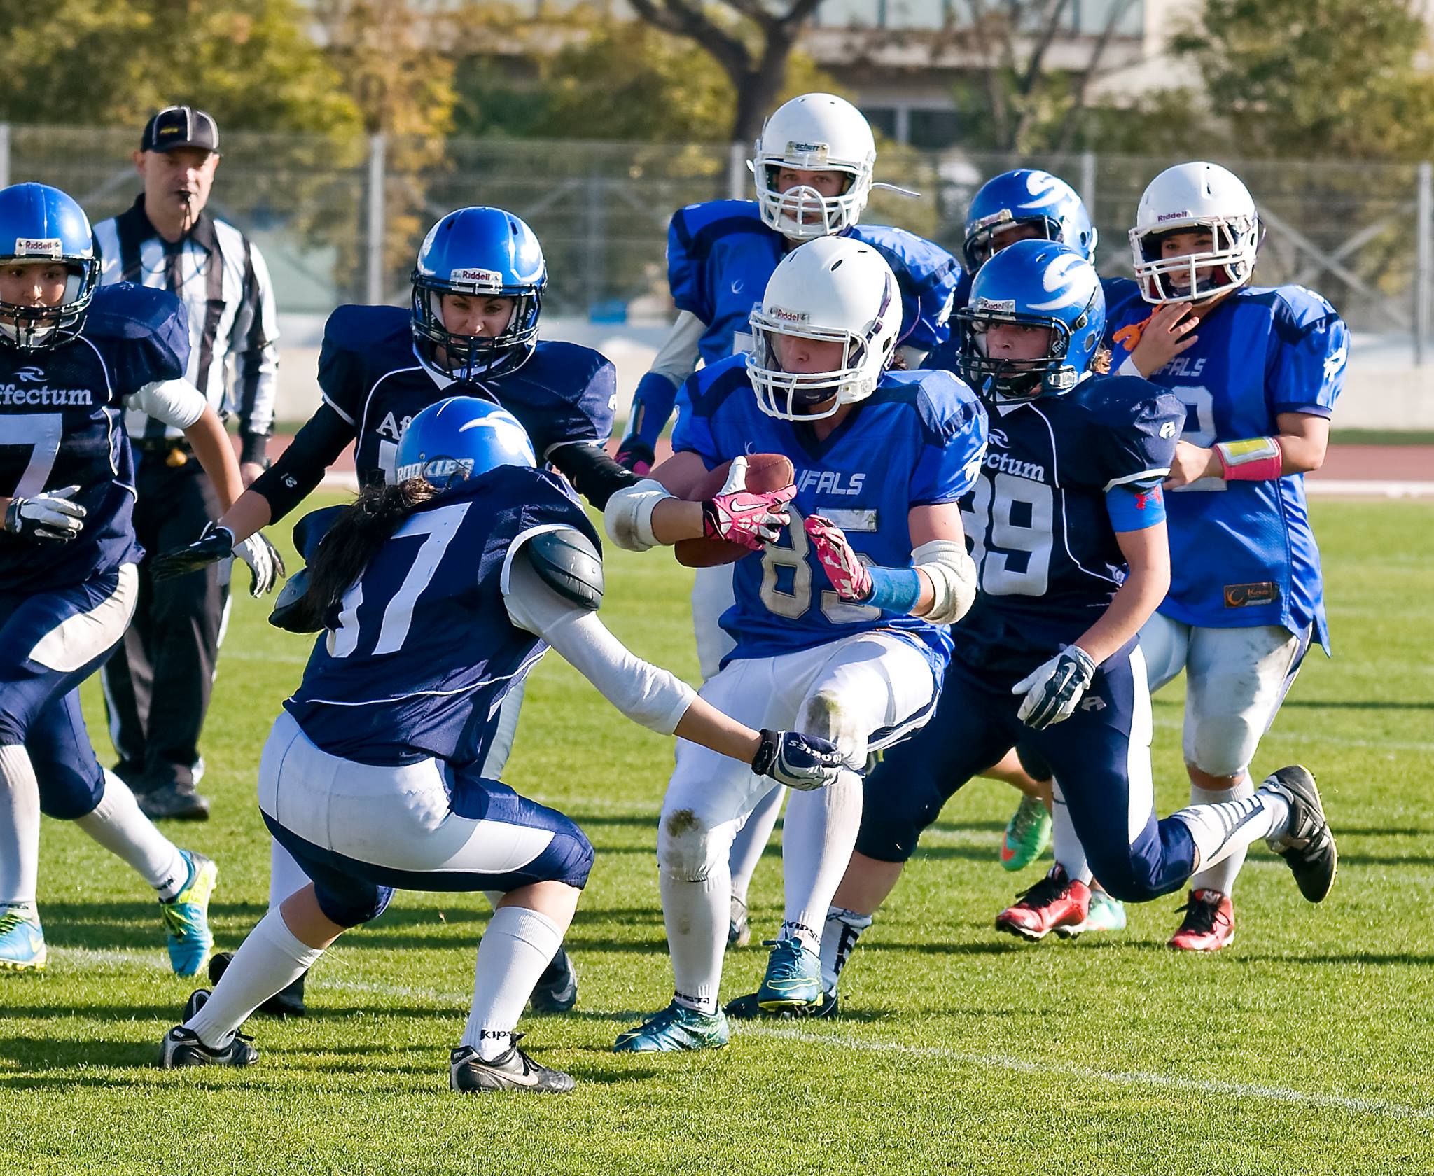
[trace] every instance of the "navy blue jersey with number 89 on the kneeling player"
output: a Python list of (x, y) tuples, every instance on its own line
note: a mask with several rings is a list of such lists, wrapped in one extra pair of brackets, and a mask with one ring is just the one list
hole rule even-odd
[(961, 503), (981, 591), (952, 630), (958, 658), (1015, 681), (1100, 618), (1126, 578), (1106, 495), (1160, 485), (1182, 416), (1173, 396), (1126, 376), (992, 412)]

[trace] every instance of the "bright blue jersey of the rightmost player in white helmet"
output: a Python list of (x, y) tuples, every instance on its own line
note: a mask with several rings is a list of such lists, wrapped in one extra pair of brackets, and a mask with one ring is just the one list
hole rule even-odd
[[(1107, 311), (1116, 356), (1134, 350), (1152, 307), (1133, 281)], [(1187, 351), (1150, 376), (1186, 407), (1184, 440), (1266, 437), (1279, 413), (1328, 417), (1344, 387), (1349, 333), (1318, 294), (1302, 285), (1245, 287), (1196, 330)], [(1120, 359), (1116, 360), (1117, 366)], [(1207, 628), (1311, 624), (1328, 651), (1319, 549), (1309, 528), (1305, 479), (1202, 479), (1166, 499), (1170, 518), (1170, 594), (1160, 611)]]

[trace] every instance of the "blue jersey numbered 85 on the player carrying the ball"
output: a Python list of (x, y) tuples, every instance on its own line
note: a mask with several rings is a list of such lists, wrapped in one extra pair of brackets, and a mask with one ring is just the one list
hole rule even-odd
[(802, 521), (825, 515), (872, 564), (909, 568), (908, 512), (971, 489), (985, 433), (981, 402), (945, 371), (885, 374), (826, 440), (810, 425), (757, 407), (744, 356), (694, 373), (678, 393), (674, 452), (691, 450), (708, 469), (741, 453), (784, 453), (796, 470), (782, 544), (734, 565), (736, 604), (720, 621), (737, 642), (728, 657), (773, 657), (882, 628), (911, 637), (939, 677), (951, 651), (946, 628), (840, 601)]

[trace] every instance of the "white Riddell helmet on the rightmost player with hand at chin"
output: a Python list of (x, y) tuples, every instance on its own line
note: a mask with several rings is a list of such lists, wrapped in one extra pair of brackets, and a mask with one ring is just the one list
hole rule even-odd
[[(1209, 229), (1207, 252), (1160, 257), (1170, 232)], [(1255, 272), (1262, 231), (1249, 189), (1219, 163), (1177, 163), (1150, 181), (1130, 229), (1136, 281), (1147, 303), (1197, 303), (1238, 290)]]

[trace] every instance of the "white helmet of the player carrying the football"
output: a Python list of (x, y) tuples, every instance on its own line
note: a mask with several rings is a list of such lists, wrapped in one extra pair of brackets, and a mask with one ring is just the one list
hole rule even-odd
[[(747, 379), (757, 406), (782, 420), (820, 420), (865, 400), (891, 363), (901, 330), (896, 275), (876, 250), (850, 237), (823, 237), (789, 252), (751, 308)], [(840, 343), (842, 360), (825, 371), (787, 371), (780, 336)], [(810, 412), (830, 400), (829, 407)], [(804, 412), (806, 410), (806, 412)]]

